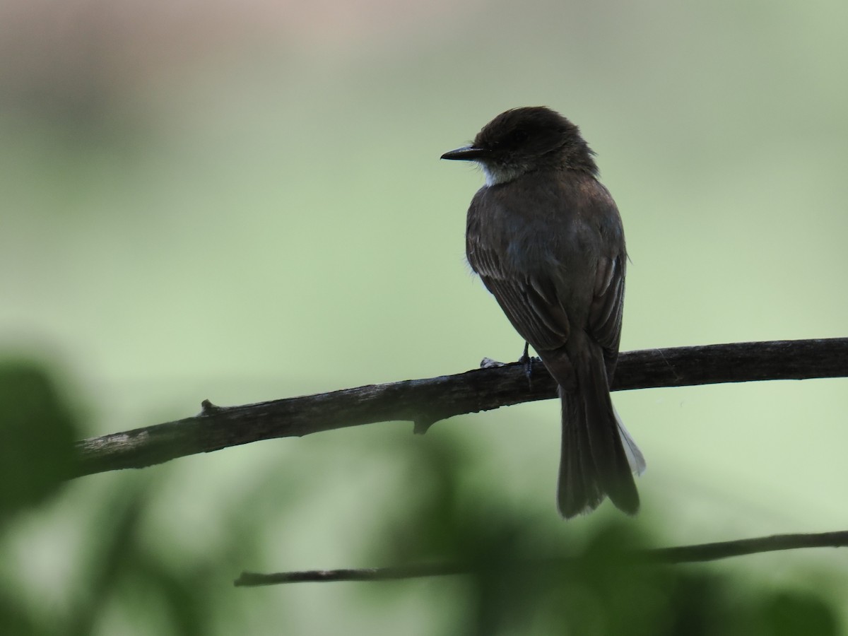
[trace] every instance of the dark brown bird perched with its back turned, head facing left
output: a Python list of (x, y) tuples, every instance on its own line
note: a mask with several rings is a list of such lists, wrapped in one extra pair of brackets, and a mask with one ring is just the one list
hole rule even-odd
[(471, 199), (466, 255), (559, 385), (557, 503), (570, 518), (605, 496), (639, 510), (644, 458), (612, 407), (627, 251), (618, 209), (580, 131), (544, 107), (507, 110), (471, 146), (486, 185)]

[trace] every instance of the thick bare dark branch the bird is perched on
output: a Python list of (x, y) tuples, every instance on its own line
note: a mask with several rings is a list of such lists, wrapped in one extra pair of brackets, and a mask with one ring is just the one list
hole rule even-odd
[[(789, 340), (622, 353), (612, 388), (846, 376), (848, 338)], [(377, 421), (414, 421), (416, 432), (425, 432), (433, 422), (462, 413), (555, 397), (554, 381), (538, 359), (529, 379), (523, 365), (512, 363), (243, 406), (206, 400), (197, 416), (78, 442), (72, 477)]]

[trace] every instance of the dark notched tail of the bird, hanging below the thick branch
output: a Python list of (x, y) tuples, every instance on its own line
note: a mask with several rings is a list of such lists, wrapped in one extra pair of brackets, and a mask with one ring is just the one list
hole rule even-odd
[(560, 514), (568, 519), (589, 512), (609, 496), (633, 515), (639, 510), (633, 473), (644, 471), (644, 457), (612, 406), (600, 352), (572, 362), (576, 382), (560, 386)]

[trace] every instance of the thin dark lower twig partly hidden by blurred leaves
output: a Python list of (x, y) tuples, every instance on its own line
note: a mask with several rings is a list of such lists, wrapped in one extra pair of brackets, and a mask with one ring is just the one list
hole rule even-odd
[[(682, 545), (676, 548), (633, 550), (622, 552), (622, 563), (672, 564), (695, 561), (716, 561), (731, 556), (753, 555), (778, 550), (800, 548), (844, 548), (848, 546), (848, 531), (815, 534), (775, 534), (770, 537), (743, 538), (715, 544)], [(510, 565), (522, 567), (567, 567), (573, 559), (540, 559)], [(346, 570), (305, 570), (300, 572), (242, 572), (233, 583), (237, 587), (278, 585), (281, 583), (328, 583), (332, 581), (388, 581), (400, 578), (444, 577), (469, 574), (472, 566), (465, 564), (431, 564), (417, 566), (369, 567)]]

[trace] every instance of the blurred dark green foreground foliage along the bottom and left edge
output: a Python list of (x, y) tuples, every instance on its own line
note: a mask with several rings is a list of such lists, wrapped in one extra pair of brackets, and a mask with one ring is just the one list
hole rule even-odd
[[(24, 510), (56, 501), (50, 495), (59, 492), (70, 466), (75, 427), (70, 407), (49, 372), (15, 362), (3, 365), (0, 377), (6, 408), (3, 432), (8, 440), (3, 449), (3, 502), (9, 524), (15, 515), (23, 518)], [(388, 431), (361, 431), (362, 438), (373, 436), (392, 438)], [(412, 583), (403, 581), (310, 588), (321, 605), (339, 590), (352, 600), (354, 605), (347, 610), (334, 610), (341, 623), (349, 622), (346, 613), (358, 614), (361, 620), (363, 613), (383, 615), (389, 608), (412, 603), (419, 616), (429, 616), (426, 624), (416, 626), (416, 633), (839, 633), (826, 590), (813, 595), (777, 588), (757, 577), (740, 579), (722, 573), (720, 563), (657, 566), (634, 561), (634, 550), (664, 543), (644, 520), (616, 517), (615, 522), (594, 522), (604, 518), (595, 515), (583, 520), (591, 521), (589, 525), (546, 525), (526, 508), (485, 499), (470, 487), (465, 479), (469, 449), (451, 436), (404, 433), (397, 439), (404, 443), (375, 446), (371, 440), (347, 445), (361, 466), (363, 461), (376, 464), (390, 448), (400, 462), (387, 479), (392, 488), (379, 494), (385, 500), (376, 510), (385, 514), (377, 512), (375, 519), (363, 502), (360, 515), (346, 526), (332, 527), (331, 536), (369, 533), (365, 544), (371, 548), (365, 558), (375, 565), (460, 563), (468, 573), (448, 577), (449, 583), (439, 578), (440, 583), (423, 594), (413, 594)], [(314, 460), (307, 463), (314, 466)], [(80, 558), (67, 582), (70, 600), (52, 611), (37, 602), (21, 604), (16, 587), (31, 586), (30, 573), (6, 572), (5, 586), (0, 588), (0, 633), (83, 636), (112, 633), (114, 625), (128, 624), (131, 633), (228, 633), (233, 623), (249, 621), (250, 611), (265, 616), (263, 624), (269, 618), (274, 624), (285, 622), (287, 611), (297, 611), (291, 603), (278, 606), (277, 600), (297, 596), (304, 586), (276, 588), (269, 595), (267, 590), (233, 589), (231, 582), (248, 564), (267, 561), (269, 569), (273, 566), (263, 555), (268, 546), (265, 552), (260, 550), (259, 539), (265, 525), (275, 522), (274, 515), (269, 515), (267, 504), (254, 507), (249, 502), (275, 500), (280, 505), (276, 521), (287, 524), (298, 521), (298, 506), (304, 504), (300, 499), (315, 499), (320, 493), (314, 488), (287, 488), (289, 496), (281, 499), (277, 488), (269, 490), (262, 484), (235, 505), (219, 510), (220, 527), (215, 530), (220, 540), (213, 550), (191, 553), (175, 550), (173, 537), (151, 533), (159, 501), (176, 484), (160, 468), (145, 474), (149, 478), (136, 477), (129, 483), (109, 475), (86, 477), (112, 478), (112, 486), (99, 499), (85, 503), (83, 513), (93, 532), (75, 550)], [(303, 479), (304, 473), (292, 466), (291, 472), (281, 471), (277, 477), (282, 483), (293, 482)], [(179, 516), (177, 510), (168, 514)], [(553, 509), (550, 514), (555, 514)], [(307, 526), (318, 523), (314, 517), (299, 521)], [(191, 527), (187, 532), (199, 538), (210, 529)], [(0, 544), (0, 560), (8, 562), (10, 554), (9, 545)], [(35, 594), (41, 595), (37, 586)], [(447, 627), (445, 616), (451, 617)], [(404, 622), (403, 614), (399, 621)], [(360, 633), (375, 631), (363, 628)]]

